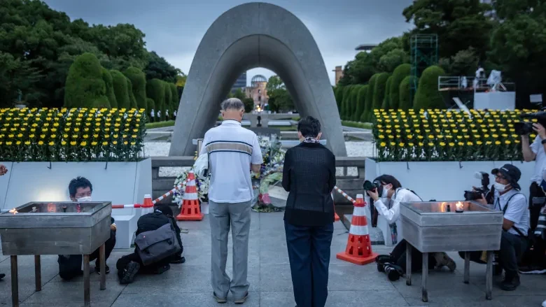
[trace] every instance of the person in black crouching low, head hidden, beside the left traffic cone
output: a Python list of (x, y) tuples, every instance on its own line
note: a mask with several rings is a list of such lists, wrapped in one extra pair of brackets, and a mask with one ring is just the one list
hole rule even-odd
[(186, 261), (184, 257), (181, 257), (183, 252), (182, 239), (180, 237), (180, 228), (174, 220), (172, 209), (168, 205), (159, 205), (154, 207), (153, 213), (147, 213), (139, 217), (137, 221), (137, 236), (145, 231), (154, 231), (164, 226), (165, 224), (171, 224), (172, 231), (176, 234), (176, 240), (180, 244), (180, 252), (176, 252), (173, 255), (165, 257), (158, 262), (144, 265), (141, 257), (139, 256), (138, 246), (134, 248), (134, 252), (121, 257), (116, 263), (116, 269), (118, 269), (118, 278), (120, 284), (125, 285), (132, 283), (137, 274), (161, 274), (168, 271), (170, 264), (181, 264)]

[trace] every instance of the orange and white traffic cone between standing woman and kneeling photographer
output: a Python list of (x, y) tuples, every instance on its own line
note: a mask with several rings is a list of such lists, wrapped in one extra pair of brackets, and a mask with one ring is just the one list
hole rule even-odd
[(337, 253), (337, 259), (360, 265), (375, 261), (377, 254), (372, 252), (370, 233), (367, 230), (365, 205), (363, 195), (356, 195), (347, 248), (344, 252)]

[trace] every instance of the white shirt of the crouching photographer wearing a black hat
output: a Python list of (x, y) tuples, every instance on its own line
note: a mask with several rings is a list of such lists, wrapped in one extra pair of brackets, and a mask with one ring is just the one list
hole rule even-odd
[[(505, 194), (500, 195), (500, 193), (495, 190), (495, 200), (493, 201), (493, 208), (498, 211), (502, 211), (505, 206), (506, 212), (504, 213), (504, 218), (514, 222), (514, 227), (517, 227), (525, 236), (529, 229), (529, 209), (527, 204), (527, 199), (524, 194), (518, 194), (512, 197), (514, 194), (519, 193), (517, 190), (510, 190)], [(510, 199), (512, 197), (512, 199)], [(508, 204), (508, 199), (510, 199), (510, 204)], [(519, 236), (514, 227), (510, 228), (508, 232), (510, 234), (516, 234)]]

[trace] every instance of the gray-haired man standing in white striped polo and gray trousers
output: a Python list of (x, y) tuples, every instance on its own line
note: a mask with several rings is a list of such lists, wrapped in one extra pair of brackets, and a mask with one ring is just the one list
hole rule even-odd
[[(248, 297), (248, 232), (253, 198), (250, 171), (260, 172), (262, 152), (258, 136), (241, 127), (244, 104), (236, 98), (222, 103), (223, 122), (207, 131), (200, 155), (209, 155), (209, 220), (211, 222), (211, 283), (214, 299), (227, 301), (231, 290), (235, 304)], [(232, 227), (233, 279), (225, 273), (228, 234)]]

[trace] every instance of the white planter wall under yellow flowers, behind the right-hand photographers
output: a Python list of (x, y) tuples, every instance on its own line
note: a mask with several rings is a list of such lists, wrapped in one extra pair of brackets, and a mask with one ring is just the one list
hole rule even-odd
[[(374, 159), (366, 159), (365, 178), (372, 181), (383, 174), (392, 175), (400, 181), (402, 187), (413, 190), (423, 201), (430, 199), (462, 201), (465, 190), (472, 190), (472, 185), (475, 187), (481, 185), (480, 181), (474, 177), (475, 172), (489, 173), (489, 180), (493, 184), (495, 179), (491, 176), (491, 169), (504, 164), (514, 164), (521, 171), (521, 179), (519, 179), (521, 193), (528, 197), (535, 162), (376, 162)], [(391, 241), (388, 223), (381, 215), (378, 218), (377, 227), (383, 231), (385, 243), (388, 245), (387, 242)], [(398, 241), (401, 239), (399, 236)]]

